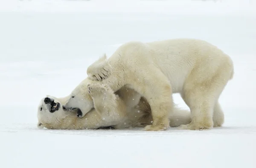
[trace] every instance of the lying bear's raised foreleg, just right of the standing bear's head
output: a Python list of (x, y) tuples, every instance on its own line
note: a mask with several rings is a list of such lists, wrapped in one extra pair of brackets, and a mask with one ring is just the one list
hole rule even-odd
[(124, 102), (115, 95), (108, 85), (88, 84), (88, 92), (93, 98), (94, 108), (108, 122), (117, 122), (126, 116)]

